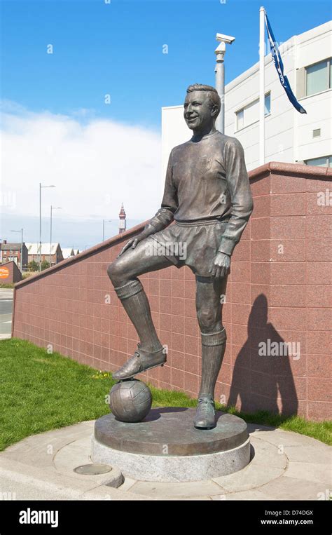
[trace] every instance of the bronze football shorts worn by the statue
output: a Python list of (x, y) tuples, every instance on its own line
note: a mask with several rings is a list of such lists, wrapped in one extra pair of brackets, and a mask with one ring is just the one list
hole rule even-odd
[(182, 223), (176, 221), (147, 239), (151, 240), (154, 254), (170, 259), (177, 268), (188, 266), (195, 275), (209, 277), (209, 269), (214, 264), (227, 223), (228, 219)]

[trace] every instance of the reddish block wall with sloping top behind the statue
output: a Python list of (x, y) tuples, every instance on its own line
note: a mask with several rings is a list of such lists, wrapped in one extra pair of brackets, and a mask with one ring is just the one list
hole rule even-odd
[[(331, 418), (332, 206), (317, 204), (331, 176), (326, 168), (275, 162), (250, 172), (254, 212), (228, 279), (228, 344), (217, 400), (247, 411)], [(120, 367), (138, 339), (106, 268), (144, 224), (19, 283), (13, 335), (52, 344), (100, 370)], [(201, 348), (193, 273), (172, 266), (140, 280), (160, 340), (169, 347), (167, 365), (141, 379), (196, 397)], [(300, 353), (258, 352), (258, 344), (282, 348), (283, 342), (296, 344)]]

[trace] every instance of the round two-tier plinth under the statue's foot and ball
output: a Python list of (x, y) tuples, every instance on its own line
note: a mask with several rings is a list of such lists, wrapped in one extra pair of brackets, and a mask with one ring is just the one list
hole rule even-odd
[(216, 412), (216, 427), (195, 429), (195, 409), (152, 409), (139, 423), (118, 421), (113, 414), (95, 422), (93, 463), (117, 466), (141, 481), (200, 481), (228, 475), (247, 466), (247, 424), (233, 414)]

